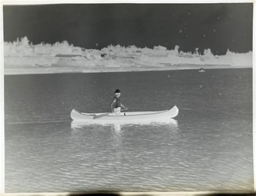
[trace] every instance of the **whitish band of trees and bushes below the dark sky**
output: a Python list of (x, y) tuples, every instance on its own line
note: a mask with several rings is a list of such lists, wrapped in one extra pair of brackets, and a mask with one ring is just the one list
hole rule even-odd
[[(55, 44), (37, 44), (30, 43), (28, 38), (17, 39), (14, 42), (4, 42), (4, 63), (9, 66), (93, 66), (96, 64), (109, 65), (107, 62), (122, 64), (122, 59), (127, 59), (138, 65), (230, 65), (232, 67), (252, 67), (252, 51), (247, 53), (234, 53), (227, 50), (225, 55), (213, 55), (210, 49), (204, 50), (203, 54), (198, 53), (198, 48), (194, 52), (179, 51), (179, 46), (173, 50), (167, 50), (163, 46), (154, 46), (151, 48), (138, 48), (136, 46), (123, 47), (107, 46), (102, 50), (85, 49), (75, 47), (68, 41)], [(72, 58), (73, 60), (68, 60)], [(62, 60), (60, 62), (60, 59)], [(66, 59), (67, 64), (63, 64)], [(104, 64), (103, 64), (104, 62)]]

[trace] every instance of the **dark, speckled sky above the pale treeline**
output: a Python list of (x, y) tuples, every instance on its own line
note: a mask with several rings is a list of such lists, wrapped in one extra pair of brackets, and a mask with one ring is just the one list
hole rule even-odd
[(252, 51), (253, 3), (4, 5), (4, 41)]

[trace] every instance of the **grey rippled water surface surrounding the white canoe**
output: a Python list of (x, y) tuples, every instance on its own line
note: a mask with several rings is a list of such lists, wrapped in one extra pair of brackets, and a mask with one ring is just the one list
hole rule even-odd
[[(253, 191), (252, 69), (5, 76), (5, 192)], [(76, 108), (165, 110), (166, 123), (81, 124)]]

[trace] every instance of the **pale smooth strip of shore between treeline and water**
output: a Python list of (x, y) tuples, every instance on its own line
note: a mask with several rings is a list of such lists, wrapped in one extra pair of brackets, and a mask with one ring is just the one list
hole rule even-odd
[(108, 73), (108, 72), (146, 72), (146, 71), (175, 71), (188, 69), (237, 69), (252, 68), (245, 66), (230, 65), (189, 65), (177, 64), (164, 67), (26, 67), (26, 68), (4, 68), (4, 75), (28, 75), (28, 74), (63, 74), (63, 73)]

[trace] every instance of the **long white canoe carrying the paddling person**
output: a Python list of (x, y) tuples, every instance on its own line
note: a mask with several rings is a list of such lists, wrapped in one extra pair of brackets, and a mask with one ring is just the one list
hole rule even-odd
[(169, 110), (163, 111), (131, 111), (121, 113), (120, 116), (113, 116), (111, 114), (95, 118), (97, 115), (106, 113), (81, 113), (76, 109), (71, 111), (70, 117), (73, 121), (82, 122), (140, 122), (140, 121), (158, 121), (174, 118), (178, 115), (179, 109), (177, 106)]

